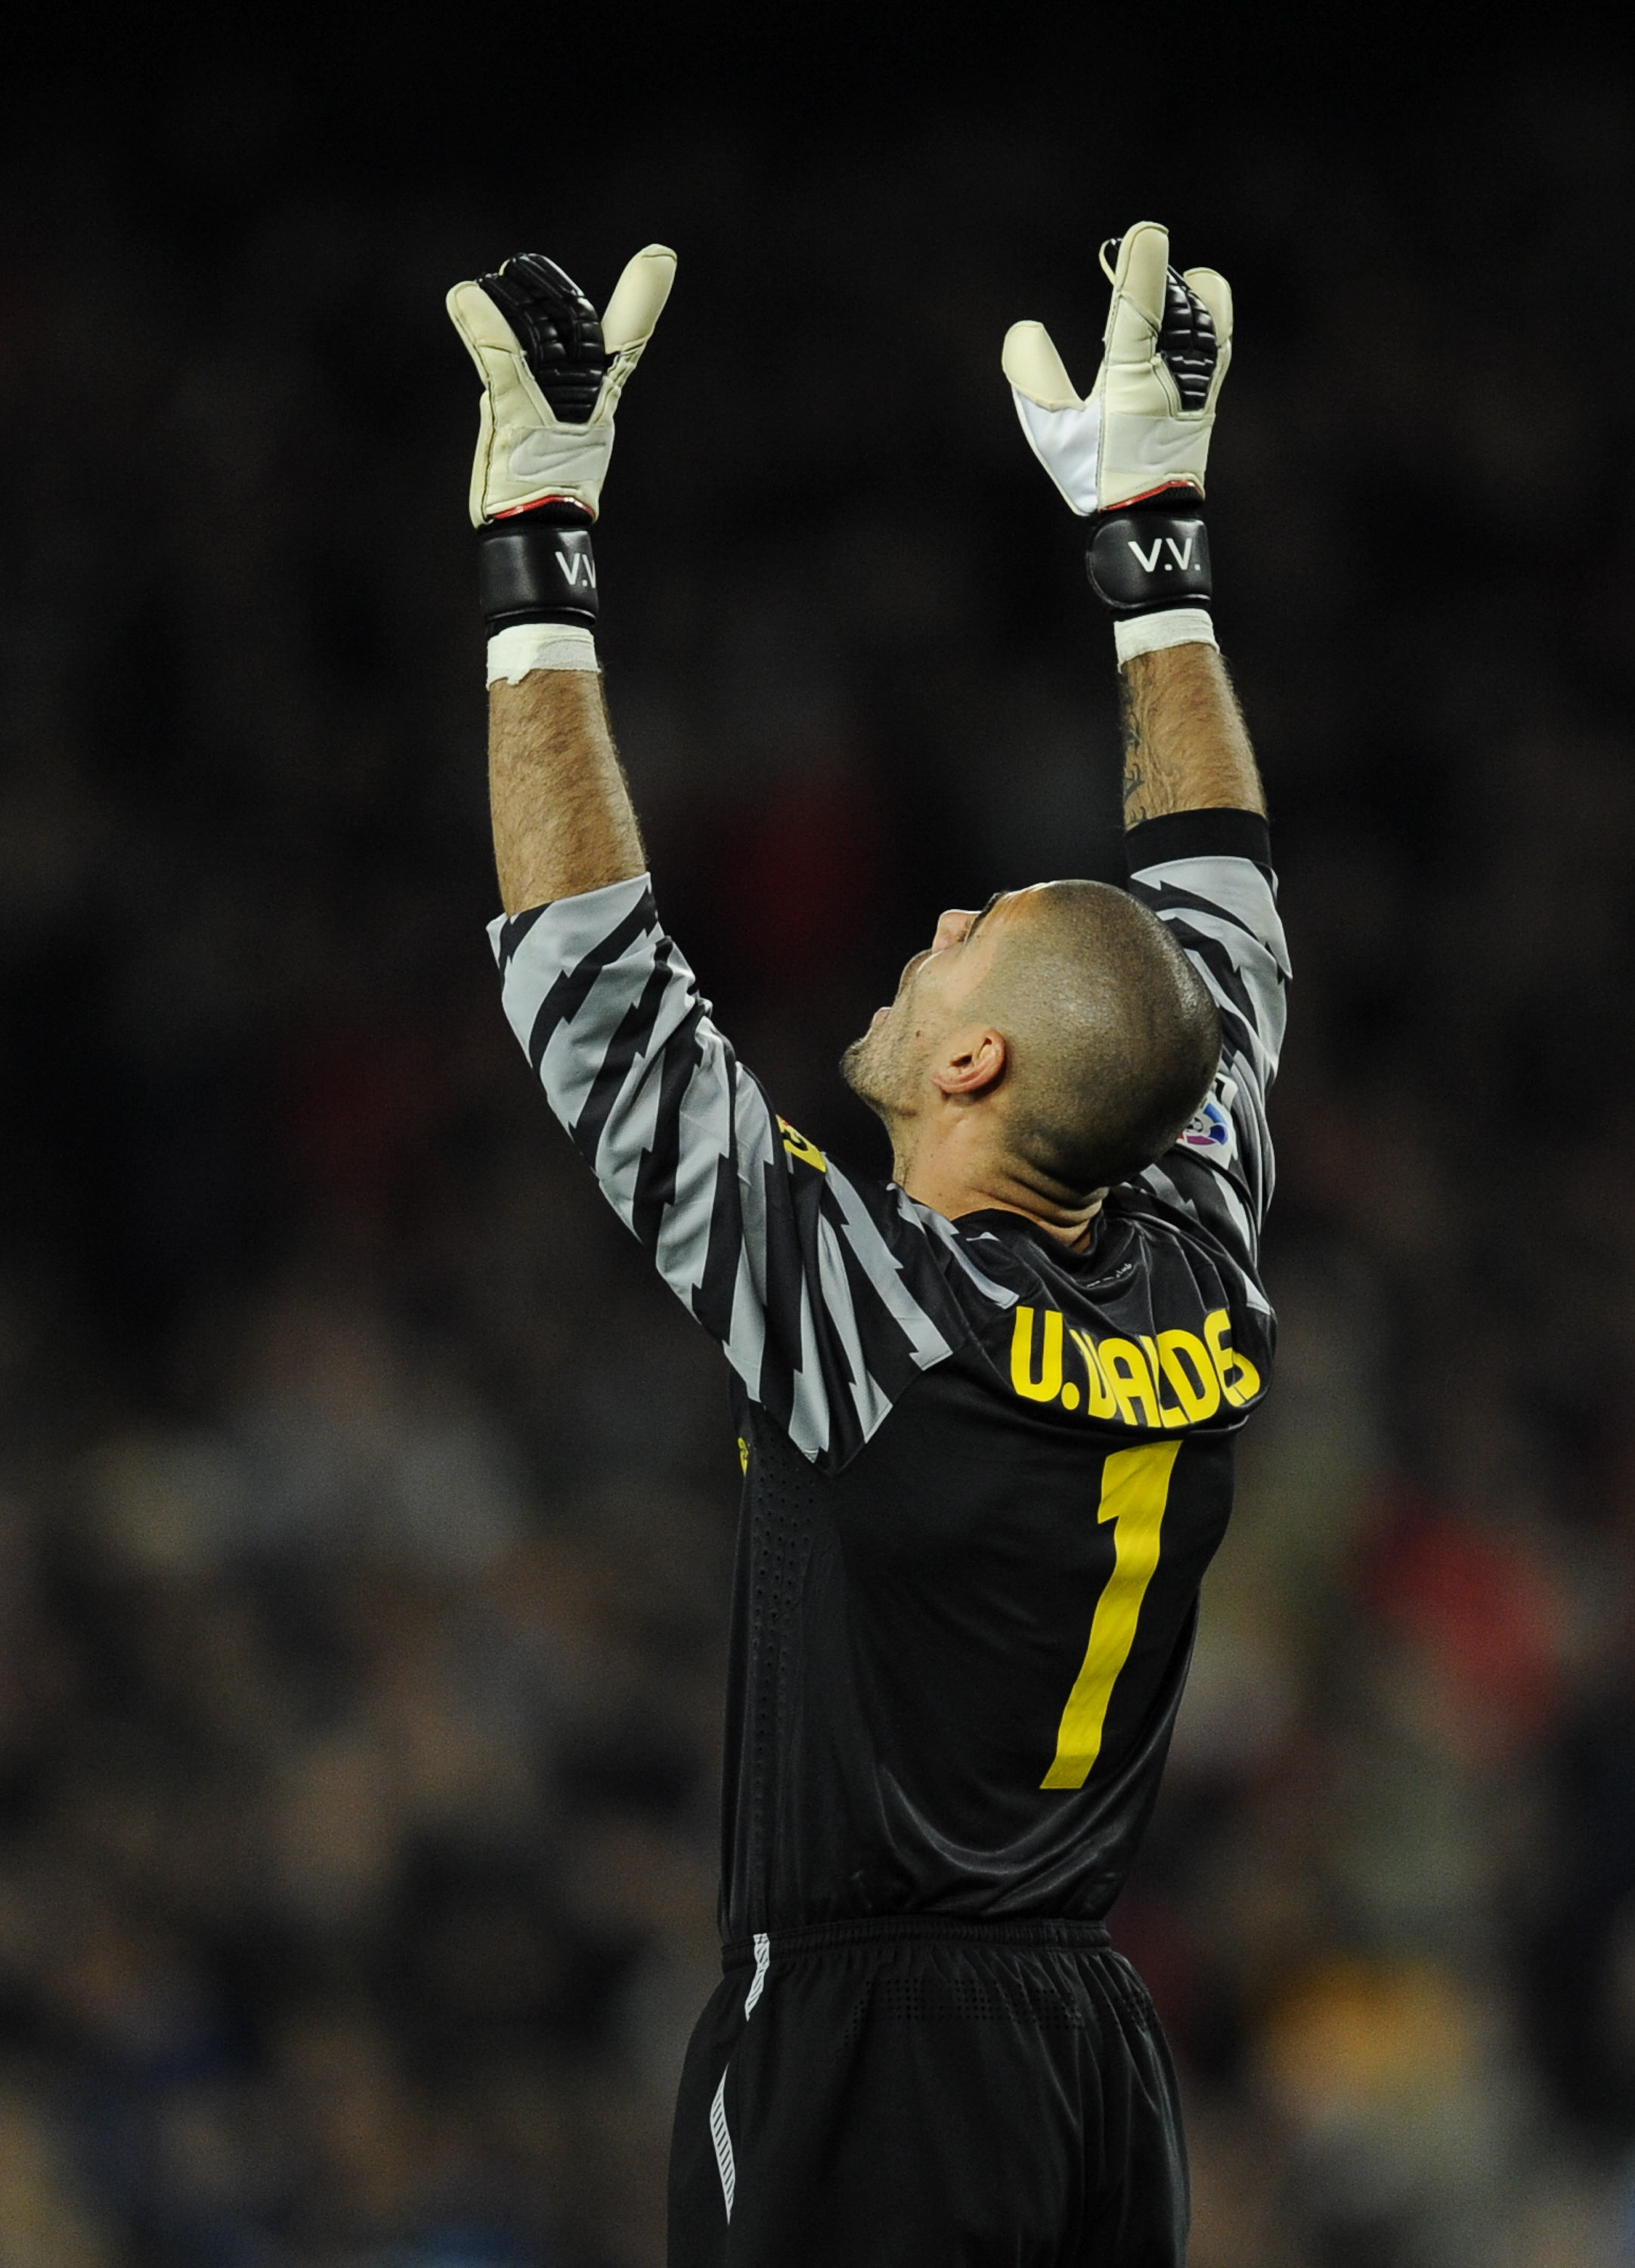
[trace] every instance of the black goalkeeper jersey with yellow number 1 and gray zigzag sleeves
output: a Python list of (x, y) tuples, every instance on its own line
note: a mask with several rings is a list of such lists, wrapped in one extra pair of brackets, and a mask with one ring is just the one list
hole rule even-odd
[(551, 1107), (735, 1377), (728, 1939), (1095, 1921), (1152, 1810), (1272, 1359), (1288, 971), (1261, 819), (1154, 819), (1129, 862), (1225, 1046), (1086, 1254), (1018, 1213), (946, 1220), (778, 1118), (646, 878), (492, 928)]

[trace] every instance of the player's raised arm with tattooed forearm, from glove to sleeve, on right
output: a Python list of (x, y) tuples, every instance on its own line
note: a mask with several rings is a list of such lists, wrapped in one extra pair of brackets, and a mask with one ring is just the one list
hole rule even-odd
[(1252, 1270), (1272, 1193), (1265, 1095), (1288, 959), (1261, 776), (1215, 651), (1202, 517), (1231, 290), (1213, 268), (1177, 274), (1152, 220), (1104, 245), (1102, 268), (1113, 293), (1088, 397), (1036, 322), (1007, 333), (1005, 374), (1034, 456), (1088, 522), (1091, 587), (1113, 615), (1129, 889), (1168, 923), (1220, 1012), (1215, 1089), (1141, 1179)]

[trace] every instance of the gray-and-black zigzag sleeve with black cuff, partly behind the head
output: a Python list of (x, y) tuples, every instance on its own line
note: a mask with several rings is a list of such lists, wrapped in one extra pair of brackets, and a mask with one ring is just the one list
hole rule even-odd
[(1288, 1014), (1274, 882), (1249, 857), (1157, 857), (1134, 869), (1129, 889), (1168, 923), (1220, 1009), (1215, 1091), (1141, 1179), (1254, 1270), (1274, 1177), (1265, 1098)]

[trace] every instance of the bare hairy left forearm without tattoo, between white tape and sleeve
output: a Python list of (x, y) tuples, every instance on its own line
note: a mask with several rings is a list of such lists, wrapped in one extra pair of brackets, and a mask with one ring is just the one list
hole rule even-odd
[(508, 914), (642, 873), (646, 853), (594, 669), (488, 694), (488, 789)]

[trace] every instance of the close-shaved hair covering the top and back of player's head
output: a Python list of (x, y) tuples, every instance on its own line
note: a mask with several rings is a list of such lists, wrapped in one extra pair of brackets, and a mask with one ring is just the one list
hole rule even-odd
[(1166, 925), (1107, 882), (1045, 882), (973, 998), (1005, 1034), (1018, 1163), (1064, 1188), (1150, 1166), (1209, 1093), (1215, 1002)]

